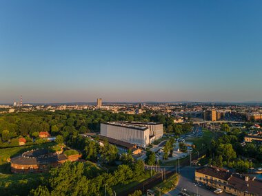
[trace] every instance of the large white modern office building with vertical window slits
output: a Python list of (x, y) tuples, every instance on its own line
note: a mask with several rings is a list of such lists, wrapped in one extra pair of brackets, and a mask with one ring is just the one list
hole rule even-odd
[[(148, 126), (146, 126), (148, 125)], [(160, 131), (162, 127), (162, 131)], [(100, 134), (145, 148), (163, 135), (163, 124), (145, 122), (104, 122)]]

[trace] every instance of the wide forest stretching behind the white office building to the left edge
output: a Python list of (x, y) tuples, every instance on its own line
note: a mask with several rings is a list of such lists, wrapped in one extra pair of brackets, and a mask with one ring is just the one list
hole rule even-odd
[[(97, 132), (101, 122), (108, 121), (141, 121), (161, 122), (166, 132), (180, 135), (192, 129), (192, 124), (174, 124), (173, 118), (150, 112), (130, 115), (109, 111), (34, 111), (8, 113), (0, 116), (0, 146), (17, 146), (18, 138), (24, 137), (27, 142), (37, 138), (40, 131), (48, 131), (51, 135), (69, 135)], [(43, 141), (39, 140), (39, 143)]]

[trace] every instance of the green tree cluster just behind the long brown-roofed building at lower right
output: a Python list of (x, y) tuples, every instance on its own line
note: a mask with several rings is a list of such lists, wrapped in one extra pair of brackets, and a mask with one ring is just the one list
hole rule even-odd
[(253, 142), (242, 144), (246, 134), (239, 129), (227, 129), (227, 134), (210, 142), (207, 157), (214, 166), (228, 166), (236, 171), (245, 173), (253, 164), (262, 161), (262, 144)]

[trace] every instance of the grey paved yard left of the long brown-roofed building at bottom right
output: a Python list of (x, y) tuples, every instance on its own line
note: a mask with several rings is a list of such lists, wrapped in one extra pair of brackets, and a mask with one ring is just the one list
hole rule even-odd
[[(181, 177), (179, 179), (179, 184), (177, 185), (177, 188), (175, 190), (170, 191), (169, 193), (165, 194), (164, 196), (175, 196), (178, 195), (179, 190), (186, 189), (189, 193), (193, 193), (197, 195), (202, 196), (214, 196), (212, 191), (207, 190), (206, 188), (202, 186), (196, 186), (194, 184), (194, 167), (185, 166), (181, 168), (180, 170)], [(221, 193), (221, 196), (229, 196), (227, 193)]]

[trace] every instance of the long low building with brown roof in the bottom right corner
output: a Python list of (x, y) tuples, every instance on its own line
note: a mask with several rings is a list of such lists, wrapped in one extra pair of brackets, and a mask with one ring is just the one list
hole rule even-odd
[(195, 180), (232, 195), (262, 195), (262, 182), (256, 177), (232, 173), (224, 168), (215, 166), (198, 168), (195, 171)]

